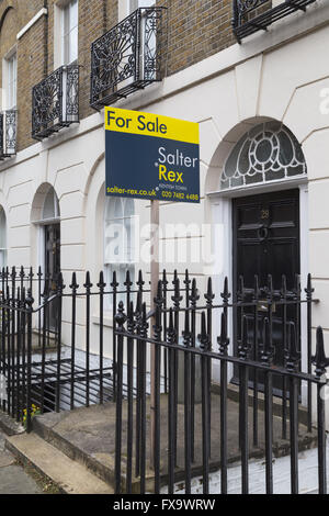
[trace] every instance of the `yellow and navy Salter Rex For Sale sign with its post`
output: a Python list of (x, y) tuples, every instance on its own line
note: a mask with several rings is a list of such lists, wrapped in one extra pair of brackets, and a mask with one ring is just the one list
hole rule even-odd
[[(200, 202), (198, 124), (151, 113), (105, 108), (105, 193), (150, 200), (151, 310), (159, 281), (159, 203)], [(151, 332), (155, 325), (152, 317)], [(150, 457), (155, 442), (155, 349), (150, 357)]]

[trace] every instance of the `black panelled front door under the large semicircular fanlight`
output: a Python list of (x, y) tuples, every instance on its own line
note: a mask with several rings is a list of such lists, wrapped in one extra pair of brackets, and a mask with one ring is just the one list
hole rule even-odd
[[(254, 276), (259, 277), (261, 289), (266, 288), (268, 277), (272, 276), (274, 290), (280, 291), (282, 276), (285, 274), (287, 290), (295, 287), (296, 274), (300, 273), (299, 259), (299, 190), (288, 190), (269, 194), (236, 199), (234, 213), (234, 292), (237, 291), (239, 277), (243, 277), (248, 291), (254, 287)], [(253, 309), (245, 310), (248, 318), (248, 334), (253, 335)], [(283, 310), (273, 307), (274, 364), (282, 366), (283, 350)], [(239, 338), (240, 322), (238, 311), (235, 315), (235, 341)], [(259, 332), (268, 311), (258, 313)], [(287, 310), (287, 319), (297, 322), (297, 309)]]

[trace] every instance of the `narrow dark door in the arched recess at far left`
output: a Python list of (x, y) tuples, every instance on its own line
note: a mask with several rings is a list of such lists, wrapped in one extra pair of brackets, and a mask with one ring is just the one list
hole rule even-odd
[[(57, 278), (60, 272), (60, 224), (45, 226), (45, 272), (48, 281), (48, 296), (57, 289)], [(56, 329), (56, 301), (49, 306), (49, 328)]]

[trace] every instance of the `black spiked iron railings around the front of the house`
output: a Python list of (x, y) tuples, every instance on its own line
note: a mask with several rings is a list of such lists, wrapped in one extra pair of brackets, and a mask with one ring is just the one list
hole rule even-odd
[(291, 491), (297, 493), (298, 451), (311, 446), (318, 447), (318, 485), (326, 493), (329, 361), (321, 328), (313, 343), (318, 300), (310, 276), (304, 290), (298, 277), (290, 288), (283, 277), (276, 289), (272, 277), (265, 284), (256, 277), (253, 288), (240, 278), (229, 292), (225, 279), (216, 300), (211, 279), (202, 294), (188, 271), (183, 278), (163, 271), (152, 311), (141, 272), (136, 282), (127, 272), (124, 284), (115, 272), (107, 284), (102, 272), (97, 284), (89, 272), (79, 282), (76, 273), (64, 285), (61, 274), (50, 278), (41, 269), (1, 272), (2, 410), (25, 420), (27, 431), (33, 404), (44, 413), (114, 403), (117, 493), (158, 493), (163, 485), (173, 493), (183, 481), (189, 494), (200, 474), (208, 493), (216, 469), (227, 493), (232, 461), (241, 462), (241, 491), (248, 493), (250, 459), (263, 456), (270, 494), (276, 453), (290, 453)]

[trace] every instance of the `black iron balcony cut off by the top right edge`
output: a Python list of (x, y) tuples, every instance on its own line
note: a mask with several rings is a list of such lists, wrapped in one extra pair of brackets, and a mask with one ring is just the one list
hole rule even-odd
[(240, 43), (246, 36), (268, 26), (293, 12), (306, 11), (316, 0), (285, 0), (273, 5), (272, 0), (234, 0), (234, 33)]

